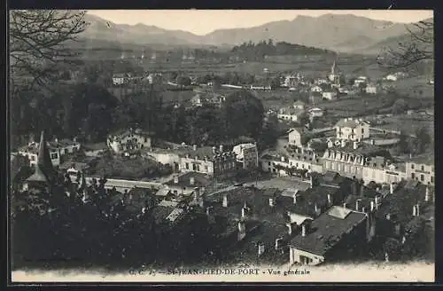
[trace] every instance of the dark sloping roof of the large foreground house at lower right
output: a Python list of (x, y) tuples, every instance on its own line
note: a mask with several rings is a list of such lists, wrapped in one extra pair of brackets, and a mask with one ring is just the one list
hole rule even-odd
[(338, 244), (346, 232), (361, 224), (366, 217), (366, 214), (334, 206), (310, 224), (305, 237), (301, 234), (295, 236), (290, 245), (293, 248), (324, 256)]

